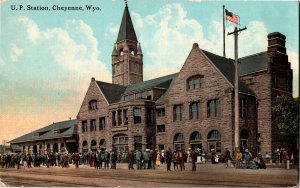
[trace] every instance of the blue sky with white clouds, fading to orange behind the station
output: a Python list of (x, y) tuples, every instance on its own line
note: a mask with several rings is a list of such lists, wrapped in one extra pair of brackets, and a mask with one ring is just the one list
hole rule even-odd
[[(12, 10), (23, 5), (50, 11)], [(53, 10), (82, 6), (84, 11)], [(92, 5), (95, 11), (86, 10)], [(239, 57), (267, 50), (284, 34), (298, 96), (297, 1), (128, 0), (144, 55), (144, 80), (179, 72), (193, 43), (223, 54), (222, 5), (240, 17)], [(75, 119), (92, 77), (111, 82), (111, 53), (123, 0), (0, 0), (0, 144)], [(226, 33), (235, 24), (226, 22)], [(226, 55), (234, 57), (233, 36)]]

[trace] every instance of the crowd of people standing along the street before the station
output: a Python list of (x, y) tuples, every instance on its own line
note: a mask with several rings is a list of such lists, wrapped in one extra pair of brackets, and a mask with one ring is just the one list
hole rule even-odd
[[(208, 155), (208, 156), (207, 156)], [(80, 165), (86, 165), (94, 167), (95, 169), (111, 168), (116, 169), (117, 163), (128, 163), (128, 169), (141, 170), (141, 169), (155, 169), (161, 164), (166, 163), (167, 171), (172, 170), (185, 170), (185, 163), (192, 164), (192, 171), (196, 171), (196, 163), (206, 163), (211, 161), (212, 164), (225, 163), (225, 168), (229, 167), (229, 161), (235, 165), (236, 168), (252, 168), (252, 169), (265, 169), (266, 162), (272, 160), (278, 160), (280, 163), (285, 162), (288, 159), (288, 154), (285, 149), (276, 150), (275, 154), (269, 156), (267, 153), (265, 156), (258, 154), (252, 156), (252, 154), (245, 149), (244, 152), (231, 152), (226, 148), (223, 154), (216, 153), (214, 149), (211, 149), (207, 154), (205, 150), (199, 148), (188, 148), (187, 151), (177, 149), (172, 151), (170, 148), (167, 150), (159, 151), (157, 149), (145, 149), (141, 151), (131, 150), (127, 152), (117, 152), (115, 150), (108, 151), (101, 149), (89, 153), (53, 153), (48, 152), (45, 155), (40, 154), (7, 154), (0, 155), (0, 167), (1, 168), (17, 168), (25, 166), (27, 168), (46, 166), (50, 168), (52, 166), (60, 166), (68, 168), (70, 164), (73, 164), (76, 168)], [(173, 168), (171, 168), (173, 163)], [(135, 164), (135, 165), (134, 165)]]

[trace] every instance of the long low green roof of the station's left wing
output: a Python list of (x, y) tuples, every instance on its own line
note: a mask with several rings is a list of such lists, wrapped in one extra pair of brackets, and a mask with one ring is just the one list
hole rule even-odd
[(25, 134), (19, 138), (11, 140), (10, 143), (21, 143), (35, 140), (47, 140), (62, 137), (71, 137), (77, 134), (77, 120), (68, 120), (53, 123), (44, 128)]

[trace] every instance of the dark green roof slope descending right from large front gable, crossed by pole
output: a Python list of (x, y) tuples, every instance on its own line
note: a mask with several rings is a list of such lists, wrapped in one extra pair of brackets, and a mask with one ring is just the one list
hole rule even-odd
[[(202, 50), (204, 54), (211, 60), (211, 62), (221, 71), (226, 79), (234, 85), (234, 61), (232, 59), (218, 56), (211, 52)], [(248, 86), (239, 80), (239, 92), (255, 96), (255, 94), (248, 88)]]

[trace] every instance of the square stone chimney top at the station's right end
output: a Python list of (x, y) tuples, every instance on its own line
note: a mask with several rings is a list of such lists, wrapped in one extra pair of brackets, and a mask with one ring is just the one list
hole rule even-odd
[(275, 56), (276, 52), (279, 52), (281, 54), (286, 54), (285, 39), (286, 37), (279, 32), (268, 34), (269, 55)]

